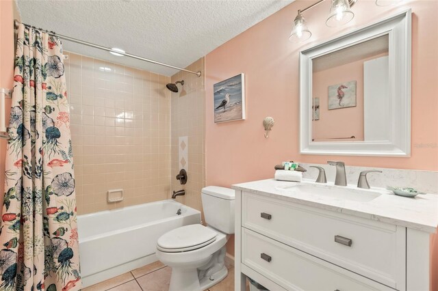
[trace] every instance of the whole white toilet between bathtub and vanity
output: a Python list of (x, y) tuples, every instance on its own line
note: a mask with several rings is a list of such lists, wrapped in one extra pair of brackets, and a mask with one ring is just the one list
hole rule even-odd
[(202, 189), (207, 226), (192, 224), (166, 232), (157, 240), (157, 258), (172, 267), (169, 291), (206, 290), (227, 277), (227, 240), (234, 234), (234, 190)]

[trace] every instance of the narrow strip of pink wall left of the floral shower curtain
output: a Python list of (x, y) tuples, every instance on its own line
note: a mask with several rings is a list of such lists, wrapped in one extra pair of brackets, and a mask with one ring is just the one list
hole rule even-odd
[[(0, 87), (12, 88), (14, 74), (14, 5), (13, 1), (0, 1)], [(6, 108), (10, 100), (6, 100)], [(9, 116), (9, 110), (6, 113)], [(0, 206), (3, 205), (5, 184), (6, 141), (0, 139)], [(1, 212), (1, 207), (0, 207)], [(1, 214), (1, 213), (0, 213)]]

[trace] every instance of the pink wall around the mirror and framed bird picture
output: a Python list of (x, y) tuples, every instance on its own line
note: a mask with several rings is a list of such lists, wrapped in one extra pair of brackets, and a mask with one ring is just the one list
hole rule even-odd
[[(376, 6), (375, 1), (358, 1), (353, 8), (355, 18), (342, 28), (324, 24), (330, 5), (330, 1), (325, 1), (304, 13), (313, 33), (311, 39), (304, 44), (289, 42), (296, 11), (309, 3), (295, 1), (206, 56), (206, 185), (231, 186), (272, 178), (274, 165), (287, 160), (326, 163), (339, 159), (355, 166), (437, 171), (438, 1), (404, 1), (396, 7), (385, 8)], [(413, 11), (411, 157), (301, 155), (298, 148), (299, 51), (408, 8)], [(214, 83), (241, 72), (246, 77), (247, 119), (214, 124)], [(269, 139), (263, 137), (262, 120), (266, 116), (275, 119)], [(232, 246), (229, 252), (233, 253)], [(438, 281), (435, 283), (438, 288)]]

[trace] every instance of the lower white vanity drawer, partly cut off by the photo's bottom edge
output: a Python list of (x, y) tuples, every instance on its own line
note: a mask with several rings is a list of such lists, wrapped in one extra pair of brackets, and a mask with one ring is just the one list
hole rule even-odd
[(287, 290), (392, 290), (242, 227), (242, 264)]

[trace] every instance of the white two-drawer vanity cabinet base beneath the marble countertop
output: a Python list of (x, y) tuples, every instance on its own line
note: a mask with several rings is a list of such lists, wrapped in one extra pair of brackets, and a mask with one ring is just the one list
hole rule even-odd
[(234, 186), (235, 290), (245, 275), (269, 290), (429, 290), (428, 232), (263, 182), (277, 181)]

